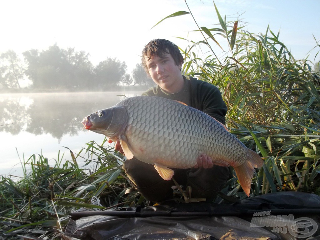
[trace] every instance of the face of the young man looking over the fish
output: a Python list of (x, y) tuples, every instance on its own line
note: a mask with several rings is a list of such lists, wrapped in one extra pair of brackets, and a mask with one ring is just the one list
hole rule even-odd
[(164, 91), (173, 93), (177, 85), (180, 86), (182, 63), (177, 66), (170, 53), (163, 57), (153, 56), (149, 60), (146, 58), (146, 64), (152, 80)]

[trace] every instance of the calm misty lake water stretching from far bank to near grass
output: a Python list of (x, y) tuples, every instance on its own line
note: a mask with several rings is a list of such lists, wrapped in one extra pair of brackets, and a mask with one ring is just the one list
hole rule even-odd
[[(141, 92), (0, 94), (0, 175), (21, 176), (21, 161), (42, 154), (55, 164), (71, 160), (87, 142), (104, 135), (83, 129), (82, 119)], [(50, 162), (51, 161), (51, 162)]]

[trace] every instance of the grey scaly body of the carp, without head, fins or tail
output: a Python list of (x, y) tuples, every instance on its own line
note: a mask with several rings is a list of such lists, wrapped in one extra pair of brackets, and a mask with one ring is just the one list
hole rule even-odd
[(200, 154), (241, 165), (245, 146), (203, 112), (159, 97), (122, 101), (128, 113), (125, 131), (133, 155), (142, 162), (190, 168)]

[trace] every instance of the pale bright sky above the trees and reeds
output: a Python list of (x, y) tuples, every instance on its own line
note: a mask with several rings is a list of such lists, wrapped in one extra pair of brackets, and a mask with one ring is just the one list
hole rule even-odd
[[(212, 0), (187, 3), (200, 27), (220, 27), (215, 25), (219, 21)], [(265, 33), (268, 24), (275, 34), (280, 30), (280, 41), (295, 59), (303, 59), (316, 46), (312, 34), (320, 40), (319, 0), (215, 0), (215, 4), (227, 20), (240, 15), (251, 33)], [(125, 61), (131, 73), (152, 39), (165, 38), (181, 48), (188, 42), (176, 37), (201, 39), (199, 33), (190, 32), (196, 29), (190, 14), (164, 20), (150, 30), (177, 11), (188, 11), (185, 0), (0, 0), (0, 53), (42, 51), (56, 43), (90, 53), (93, 65), (108, 57)], [(319, 50), (313, 50), (308, 60), (314, 62)]]

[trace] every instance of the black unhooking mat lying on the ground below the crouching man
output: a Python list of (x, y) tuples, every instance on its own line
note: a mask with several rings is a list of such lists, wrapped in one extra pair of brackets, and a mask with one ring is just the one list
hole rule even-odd
[(235, 204), (158, 205), (73, 212), (65, 240), (320, 239), (320, 196), (279, 192)]

